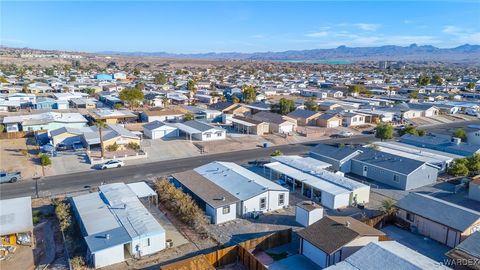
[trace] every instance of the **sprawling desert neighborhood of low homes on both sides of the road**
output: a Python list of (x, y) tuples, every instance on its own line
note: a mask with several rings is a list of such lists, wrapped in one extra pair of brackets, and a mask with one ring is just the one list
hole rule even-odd
[[(70, 264), (480, 269), (480, 125), (426, 131), (478, 120), (476, 78), (418, 86), (407, 71), (387, 80), (380, 71), (114, 67), (0, 76), (0, 139), (27, 150), (2, 147), (2, 183), (19, 180), (16, 170), (30, 181), (40, 166), (32, 153), (55, 175), (314, 142), (301, 154), (195, 159), (161, 177), (110, 177), (64, 194), (52, 213), (60, 226), (70, 215), (65, 247), (81, 243), (66, 253)], [(378, 136), (381, 126), (395, 136)], [(0, 268), (18, 263), (25, 243), (39, 245), (34, 227), (52, 215), (38, 204), (0, 200)]]

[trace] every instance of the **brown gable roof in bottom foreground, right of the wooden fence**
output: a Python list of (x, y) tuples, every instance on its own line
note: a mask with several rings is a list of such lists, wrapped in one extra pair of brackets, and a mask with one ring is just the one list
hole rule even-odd
[(298, 235), (327, 254), (332, 254), (359, 236), (383, 236), (385, 233), (352, 217), (325, 216)]

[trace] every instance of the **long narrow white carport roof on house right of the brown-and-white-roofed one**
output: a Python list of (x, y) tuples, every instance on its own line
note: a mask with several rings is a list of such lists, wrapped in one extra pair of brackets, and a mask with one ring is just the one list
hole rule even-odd
[(350, 190), (342, 186), (331, 183), (325, 179), (318, 178), (314, 175), (304, 173), (300, 170), (297, 170), (293, 167), (287, 166), (280, 162), (268, 163), (268, 164), (265, 164), (265, 167), (330, 194), (339, 195), (339, 194), (349, 194), (351, 192)]

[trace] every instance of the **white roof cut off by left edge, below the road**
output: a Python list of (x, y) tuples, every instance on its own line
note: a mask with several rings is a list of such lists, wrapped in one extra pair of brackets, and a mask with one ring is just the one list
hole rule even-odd
[(33, 230), (32, 199), (0, 200), (0, 236)]

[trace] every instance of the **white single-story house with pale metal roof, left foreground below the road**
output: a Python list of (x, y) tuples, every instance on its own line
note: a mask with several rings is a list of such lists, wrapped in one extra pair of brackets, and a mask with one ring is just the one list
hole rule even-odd
[[(145, 184), (141, 190), (149, 189)], [(165, 230), (139, 198), (138, 187), (102, 185), (99, 192), (72, 197), (74, 215), (87, 244), (87, 263), (95, 268), (140, 258), (165, 249)], [(148, 195), (155, 194), (150, 189)]]

